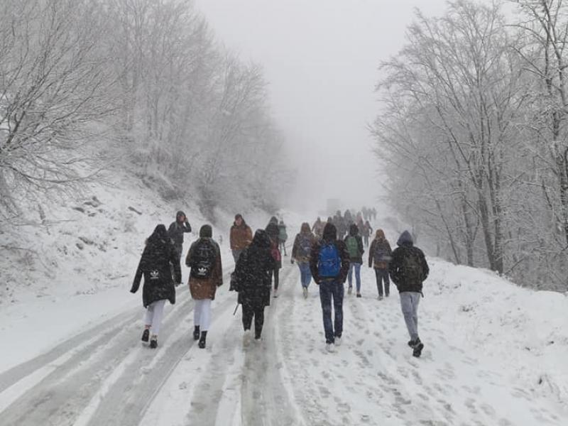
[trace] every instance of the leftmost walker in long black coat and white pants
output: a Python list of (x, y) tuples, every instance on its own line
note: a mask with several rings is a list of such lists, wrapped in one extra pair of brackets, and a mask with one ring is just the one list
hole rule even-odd
[[(172, 279), (172, 271), (174, 277)], [(175, 304), (175, 283), (182, 280), (178, 253), (168, 236), (165, 225), (155, 227), (151, 236), (146, 240), (140, 263), (136, 269), (134, 282), (130, 290), (136, 293), (144, 277), (142, 288), (142, 303), (146, 308), (144, 315), (144, 331), (142, 342), (150, 340), (150, 347), (158, 347), (158, 334), (162, 322), (165, 301)], [(152, 336), (150, 337), (150, 333)]]

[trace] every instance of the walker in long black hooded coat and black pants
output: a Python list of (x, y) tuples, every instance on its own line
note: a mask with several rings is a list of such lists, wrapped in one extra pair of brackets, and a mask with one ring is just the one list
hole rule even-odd
[(244, 344), (251, 339), (251, 324), (254, 317), (255, 339), (261, 339), (264, 324), (264, 307), (271, 304), (271, 271), (276, 261), (271, 253), (271, 239), (266, 231), (258, 229), (252, 244), (244, 249), (236, 262), (235, 290), (243, 307)]

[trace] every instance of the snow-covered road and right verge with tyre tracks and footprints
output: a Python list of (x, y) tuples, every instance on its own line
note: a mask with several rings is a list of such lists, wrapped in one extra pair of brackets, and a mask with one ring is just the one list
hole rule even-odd
[(364, 297), (345, 297), (344, 344), (327, 354), (317, 288), (305, 300), (296, 266), (285, 263), (260, 344), (242, 346), (236, 295), (224, 285), (207, 349), (198, 349), (192, 301), (180, 288), (157, 350), (139, 341), (136, 307), (1, 372), (0, 423), (567, 424), (567, 297), (431, 264), (420, 359), (406, 346), (396, 291), (377, 300), (368, 268)]

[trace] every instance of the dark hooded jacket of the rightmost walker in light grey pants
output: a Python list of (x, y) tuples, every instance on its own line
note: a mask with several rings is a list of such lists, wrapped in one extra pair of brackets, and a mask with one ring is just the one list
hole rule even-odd
[[(388, 273), (391, 275), (393, 283), (398, 288), (399, 293), (405, 291), (420, 293), (422, 292), (422, 282), (428, 277), (430, 268), (422, 250), (414, 246), (413, 238), (408, 231), (404, 231), (396, 242), (398, 247), (393, 251), (393, 258), (391, 263), (388, 264)], [(416, 259), (416, 268), (420, 273), (420, 277), (410, 278), (410, 273), (406, 271), (406, 259)], [(416, 275), (416, 274), (414, 274)]]

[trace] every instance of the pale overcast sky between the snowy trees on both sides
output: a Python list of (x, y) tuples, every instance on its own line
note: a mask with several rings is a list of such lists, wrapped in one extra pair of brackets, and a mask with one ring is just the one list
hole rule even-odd
[[(415, 7), (445, 0), (195, 0), (241, 59), (262, 65), (273, 116), (297, 168), (296, 209), (328, 197), (373, 204), (380, 187), (366, 125), (378, 111), (381, 60), (404, 43)], [(299, 200), (304, 200), (300, 202)], [(300, 205), (304, 204), (305, 205)]]

